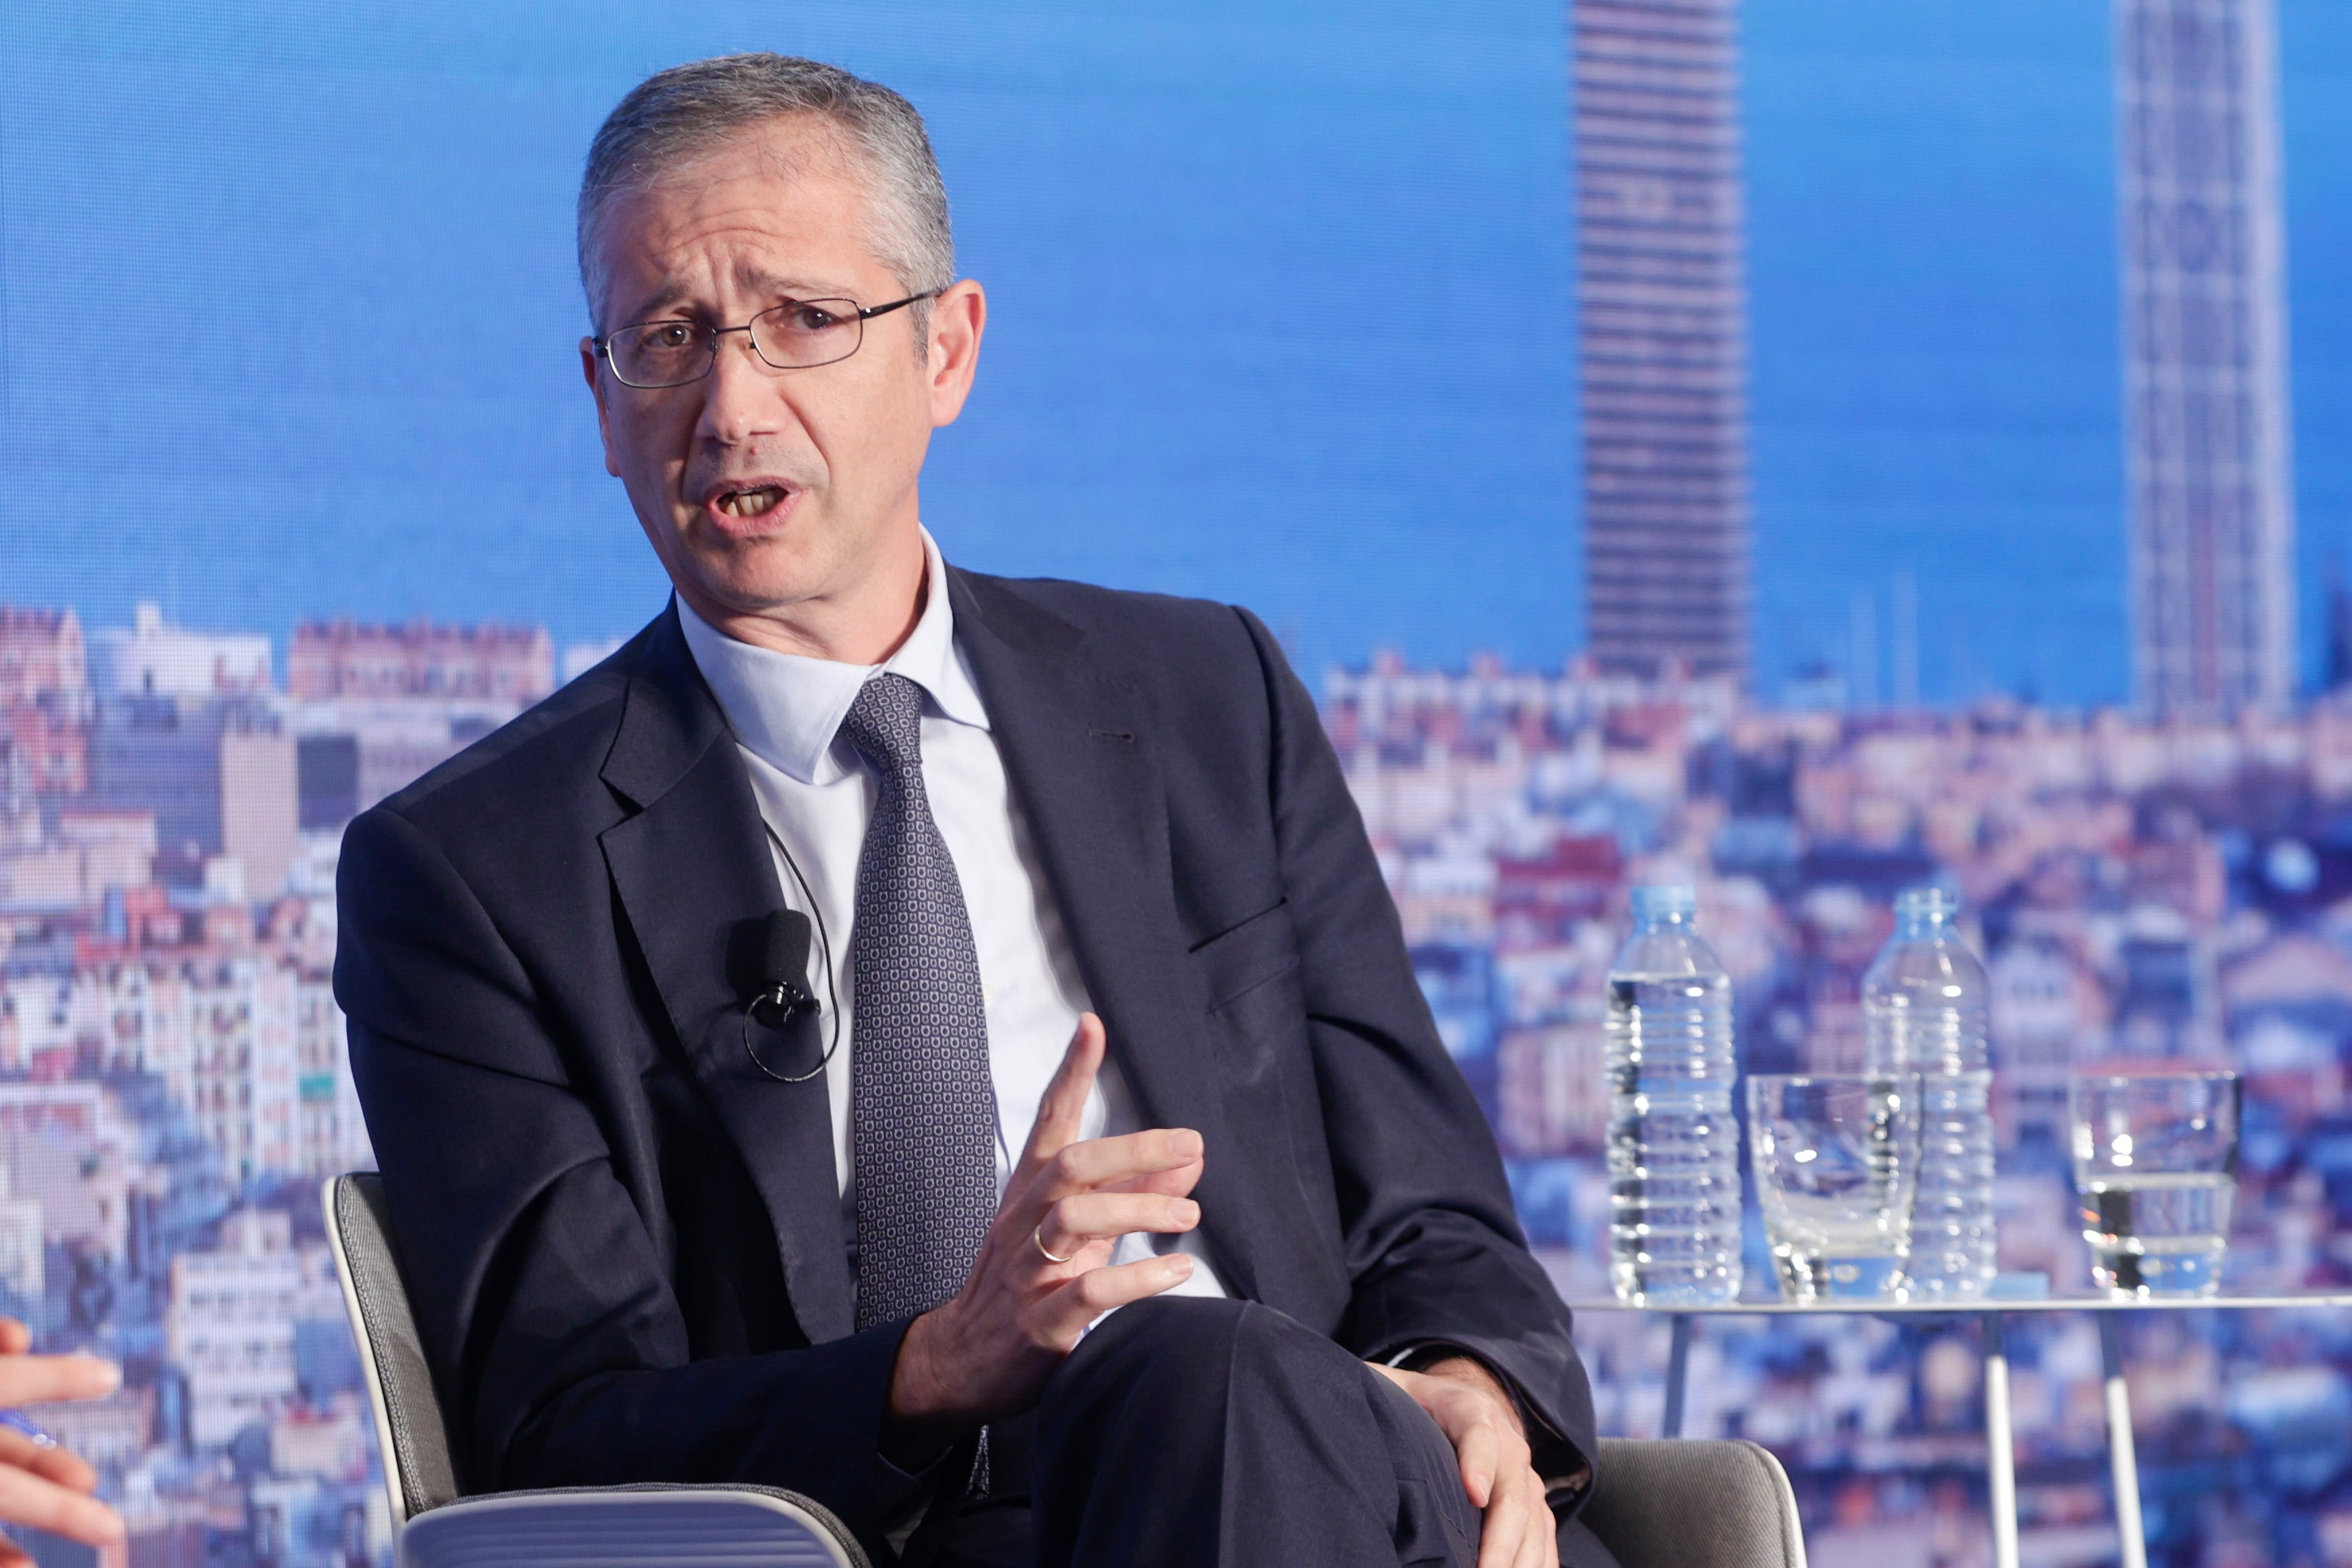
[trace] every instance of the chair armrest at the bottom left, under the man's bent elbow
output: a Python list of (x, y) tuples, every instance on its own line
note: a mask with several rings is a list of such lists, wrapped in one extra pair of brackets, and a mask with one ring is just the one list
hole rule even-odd
[(873, 1568), (821, 1505), (774, 1486), (564, 1486), (414, 1516), (400, 1568)]

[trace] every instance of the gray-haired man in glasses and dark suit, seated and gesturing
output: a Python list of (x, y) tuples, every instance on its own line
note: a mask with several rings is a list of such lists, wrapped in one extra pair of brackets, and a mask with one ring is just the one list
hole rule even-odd
[[(985, 303), (915, 110), (661, 73), (581, 270), (675, 599), (341, 860), (468, 1488), (774, 1483), (943, 1563), (1604, 1563), (1566, 1309), (1265, 628), (917, 522)], [(814, 1009), (753, 1006), (779, 912)]]

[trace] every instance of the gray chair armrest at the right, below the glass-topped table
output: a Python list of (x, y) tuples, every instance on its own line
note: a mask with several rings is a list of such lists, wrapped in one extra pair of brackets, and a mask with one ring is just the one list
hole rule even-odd
[(1804, 1568), (1797, 1493), (1771, 1450), (1698, 1439), (1602, 1439), (1578, 1519), (1623, 1568)]

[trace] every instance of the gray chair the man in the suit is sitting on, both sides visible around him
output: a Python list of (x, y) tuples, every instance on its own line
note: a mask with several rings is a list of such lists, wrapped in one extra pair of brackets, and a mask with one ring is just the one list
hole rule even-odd
[[(400, 1568), (870, 1568), (818, 1502), (771, 1486), (595, 1486), (466, 1497), (400, 1284), (383, 1178), (322, 1192), (376, 1413)], [(1797, 1497), (1755, 1443), (1602, 1439), (1585, 1512), (1625, 1568), (1804, 1568)]]

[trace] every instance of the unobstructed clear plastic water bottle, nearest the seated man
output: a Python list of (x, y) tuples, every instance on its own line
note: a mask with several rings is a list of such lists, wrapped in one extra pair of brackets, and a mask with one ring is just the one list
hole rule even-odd
[(1609, 971), (1609, 1284), (1646, 1305), (1740, 1293), (1731, 976), (1686, 886), (1637, 886)]

